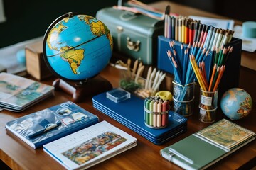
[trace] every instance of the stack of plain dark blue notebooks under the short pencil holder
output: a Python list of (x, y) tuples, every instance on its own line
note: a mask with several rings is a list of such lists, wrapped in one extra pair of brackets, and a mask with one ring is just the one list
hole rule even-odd
[(127, 128), (134, 130), (156, 145), (161, 145), (176, 135), (186, 132), (187, 119), (169, 111), (169, 123), (165, 128), (149, 128), (144, 123), (144, 100), (131, 94), (125, 101), (115, 103), (106, 97), (106, 92), (92, 98), (93, 107), (109, 115)]

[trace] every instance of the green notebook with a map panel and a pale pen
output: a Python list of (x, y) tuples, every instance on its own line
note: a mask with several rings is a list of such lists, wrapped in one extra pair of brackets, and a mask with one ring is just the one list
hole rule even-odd
[(161, 157), (183, 169), (206, 169), (255, 140), (255, 132), (222, 119), (160, 150)]

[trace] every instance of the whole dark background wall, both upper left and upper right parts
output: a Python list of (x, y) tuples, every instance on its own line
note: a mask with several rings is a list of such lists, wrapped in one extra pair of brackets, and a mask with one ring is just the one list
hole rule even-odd
[[(6, 21), (0, 23), (0, 48), (43, 36), (50, 23), (68, 12), (95, 16), (100, 8), (117, 5), (118, 0), (4, 0)], [(141, 0), (144, 3), (156, 0)], [(254, 0), (170, 0), (241, 21), (256, 21)]]

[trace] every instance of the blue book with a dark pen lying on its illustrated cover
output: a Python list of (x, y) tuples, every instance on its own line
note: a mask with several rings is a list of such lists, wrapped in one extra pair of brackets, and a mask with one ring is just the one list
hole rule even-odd
[(96, 115), (72, 101), (66, 101), (11, 120), (5, 128), (36, 149), (98, 122)]

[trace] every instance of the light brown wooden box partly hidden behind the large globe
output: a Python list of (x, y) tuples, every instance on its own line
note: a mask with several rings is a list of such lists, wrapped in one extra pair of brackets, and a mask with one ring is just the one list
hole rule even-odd
[(43, 60), (43, 40), (25, 47), (26, 69), (32, 77), (42, 80), (52, 74)]

